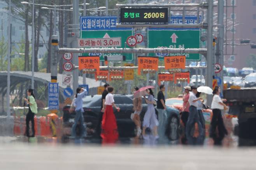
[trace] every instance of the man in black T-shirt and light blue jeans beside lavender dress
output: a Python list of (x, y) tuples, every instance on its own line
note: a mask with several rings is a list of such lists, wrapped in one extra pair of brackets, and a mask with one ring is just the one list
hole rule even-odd
[(160, 91), (157, 95), (157, 106), (156, 109), (158, 110), (158, 134), (163, 136), (165, 134), (165, 121), (167, 119), (167, 114), (165, 112), (166, 106), (165, 106), (165, 96), (163, 95), (163, 92), (165, 91), (165, 85), (160, 85)]

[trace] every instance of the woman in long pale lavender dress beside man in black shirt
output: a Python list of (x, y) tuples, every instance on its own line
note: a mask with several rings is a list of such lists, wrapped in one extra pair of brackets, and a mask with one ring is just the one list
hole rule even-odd
[(157, 127), (158, 127), (158, 120), (156, 118), (156, 112), (154, 109), (154, 94), (151, 88), (146, 90), (147, 93), (149, 94), (149, 97), (146, 99), (144, 95), (144, 99), (147, 102), (147, 111), (144, 116), (143, 120), (143, 130), (142, 130), (142, 135), (146, 135), (146, 128), (150, 128), (153, 130), (153, 134), (155, 137), (158, 137), (158, 132), (157, 132)]

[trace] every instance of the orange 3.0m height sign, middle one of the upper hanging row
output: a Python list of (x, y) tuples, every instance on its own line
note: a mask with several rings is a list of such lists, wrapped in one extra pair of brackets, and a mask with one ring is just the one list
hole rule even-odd
[(138, 75), (141, 69), (154, 69), (158, 71), (158, 57), (138, 56)]

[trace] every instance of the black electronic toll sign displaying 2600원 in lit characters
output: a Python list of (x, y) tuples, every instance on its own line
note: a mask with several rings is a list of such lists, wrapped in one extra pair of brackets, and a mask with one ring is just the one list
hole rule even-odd
[(168, 24), (167, 7), (120, 8), (121, 24)]

